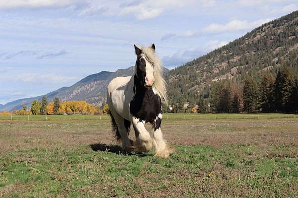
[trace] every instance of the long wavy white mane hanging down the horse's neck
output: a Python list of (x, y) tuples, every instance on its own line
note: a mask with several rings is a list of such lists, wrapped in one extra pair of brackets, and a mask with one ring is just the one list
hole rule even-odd
[(167, 103), (166, 82), (163, 79), (163, 66), (160, 59), (155, 55), (151, 48), (142, 47), (144, 57), (150, 62), (154, 63), (154, 84), (153, 89), (160, 97), (163, 103)]

